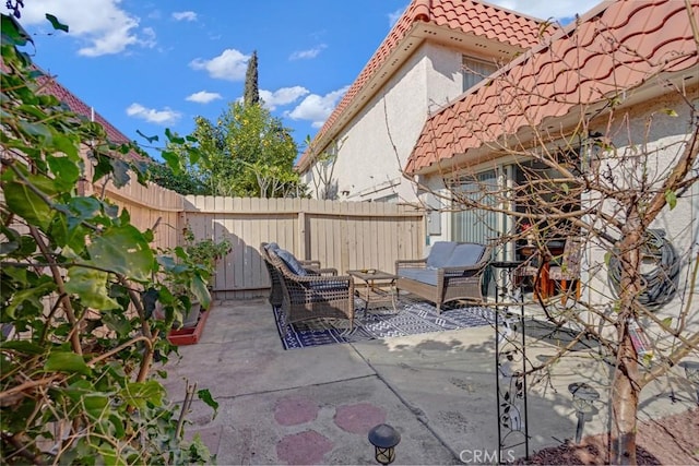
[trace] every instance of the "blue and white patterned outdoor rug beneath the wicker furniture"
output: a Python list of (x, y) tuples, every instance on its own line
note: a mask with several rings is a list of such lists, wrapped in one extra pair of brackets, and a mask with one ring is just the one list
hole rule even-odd
[(352, 331), (348, 321), (342, 319), (315, 319), (287, 326), (277, 309), (274, 318), (285, 349), (443, 332), (491, 325), (495, 321), (493, 311), (486, 308), (447, 304), (439, 314), (429, 302), (401, 303), (399, 312), (374, 309), (365, 313), (364, 308), (357, 307)]

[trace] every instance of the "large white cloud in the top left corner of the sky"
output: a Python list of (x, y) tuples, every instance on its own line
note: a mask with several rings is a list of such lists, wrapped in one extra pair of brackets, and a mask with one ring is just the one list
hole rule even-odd
[(152, 36), (139, 38), (138, 16), (121, 9), (121, 0), (33, 0), (22, 10), (22, 24), (47, 25), (46, 13), (55, 14), (70, 28), (69, 35), (83, 44), (84, 57), (120, 53), (129, 46), (151, 47)]

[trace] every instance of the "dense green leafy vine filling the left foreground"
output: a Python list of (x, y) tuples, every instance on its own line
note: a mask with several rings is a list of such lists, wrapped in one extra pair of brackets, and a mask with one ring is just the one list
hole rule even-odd
[[(2, 463), (209, 462), (200, 441), (181, 442), (165, 373), (151, 371), (156, 354), (165, 361), (174, 349), (165, 335), (188, 310), (168, 280), (206, 301), (206, 271), (182, 248), (152, 249), (153, 231), (135, 228), (127, 211), (82, 194), (84, 181), (144, 182), (145, 164), (42, 93), (51, 77), (22, 51), (29, 43), (2, 14)], [(153, 316), (156, 301), (165, 320)]]

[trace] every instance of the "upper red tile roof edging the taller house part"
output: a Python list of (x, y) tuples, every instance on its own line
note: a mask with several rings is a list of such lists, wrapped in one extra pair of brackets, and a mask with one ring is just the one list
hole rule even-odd
[[(413, 0), (383, 39), (364, 70), (350, 86), (340, 104), (315, 138), (320, 140), (351, 106), (367, 82), (376, 75), (391, 53), (410, 35), (415, 24), (430, 24), (461, 33), (471, 33), (503, 44), (529, 49), (540, 41), (540, 20), (493, 7), (477, 0)], [(308, 152), (299, 166), (304, 166)]]

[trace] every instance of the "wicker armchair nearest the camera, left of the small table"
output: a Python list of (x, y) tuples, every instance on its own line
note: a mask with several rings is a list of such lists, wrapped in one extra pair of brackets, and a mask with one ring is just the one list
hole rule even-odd
[(354, 325), (354, 282), (351, 276), (308, 272), (293, 254), (268, 249), (280, 274), (286, 325), (310, 319), (347, 319)]

